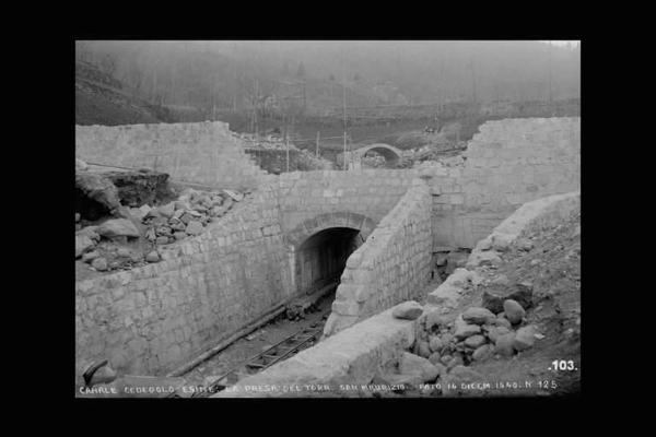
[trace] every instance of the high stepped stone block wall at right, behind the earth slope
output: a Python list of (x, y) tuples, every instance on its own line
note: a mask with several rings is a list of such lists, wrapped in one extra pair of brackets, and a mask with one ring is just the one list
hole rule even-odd
[(581, 118), (488, 121), (465, 165), (432, 176), (434, 249), (472, 248), (520, 204), (581, 187)]

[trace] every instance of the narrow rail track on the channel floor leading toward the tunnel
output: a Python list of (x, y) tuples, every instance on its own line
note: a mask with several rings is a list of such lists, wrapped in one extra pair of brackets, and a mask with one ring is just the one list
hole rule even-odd
[[(203, 390), (196, 391), (191, 398), (209, 398), (211, 394), (225, 390), (227, 387), (237, 382), (241, 376), (255, 375), (263, 369), (289, 358), (292, 355), (312, 346), (324, 332), (324, 323), (316, 321), (307, 328), (304, 328), (284, 340), (276, 343), (258, 355), (253, 356), (246, 362), (233, 367), (221, 376), (216, 377)], [(177, 398), (177, 394), (172, 394)]]

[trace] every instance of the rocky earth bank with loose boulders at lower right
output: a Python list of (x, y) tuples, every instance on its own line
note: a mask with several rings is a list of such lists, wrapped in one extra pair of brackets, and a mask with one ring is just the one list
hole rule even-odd
[[(581, 390), (581, 214), (520, 235), (501, 262), (478, 268), (457, 308), (417, 320), (409, 375), (377, 376), (347, 397), (562, 397)], [(512, 298), (525, 309), (511, 323)], [(491, 309), (491, 310), (490, 310)], [(504, 309), (508, 309), (506, 315)], [(414, 316), (417, 317), (417, 316)], [(476, 332), (467, 332), (468, 330)], [(508, 340), (493, 341), (501, 335)], [(519, 350), (519, 351), (518, 351)], [(415, 359), (418, 355), (427, 358)], [(420, 358), (421, 359), (421, 358)], [(434, 367), (425, 366), (432, 363)], [(557, 363), (554, 363), (557, 362)], [(417, 364), (419, 363), (419, 364)], [(554, 366), (557, 368), (554, 368)], [(561, 368), (558, 368), (562, 366)], [(427, 368), (427, 370), (425, 370)], [(426, 377), (426, 371), (434, 371)], [(401, 371), (402, 374), (402, 371)], [(425, 383), (420, 382), (426, 381)], [(377, 390), (394, 387), (396, 391)]]

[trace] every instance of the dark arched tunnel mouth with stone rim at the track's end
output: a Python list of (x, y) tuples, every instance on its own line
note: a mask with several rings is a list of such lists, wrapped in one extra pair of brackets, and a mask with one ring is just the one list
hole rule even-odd
[(311, 293), (341, 276), (347, 259), (375, 228), (374, 220), (350, 211), (301, 222), (284, 235), (292, 290)]

